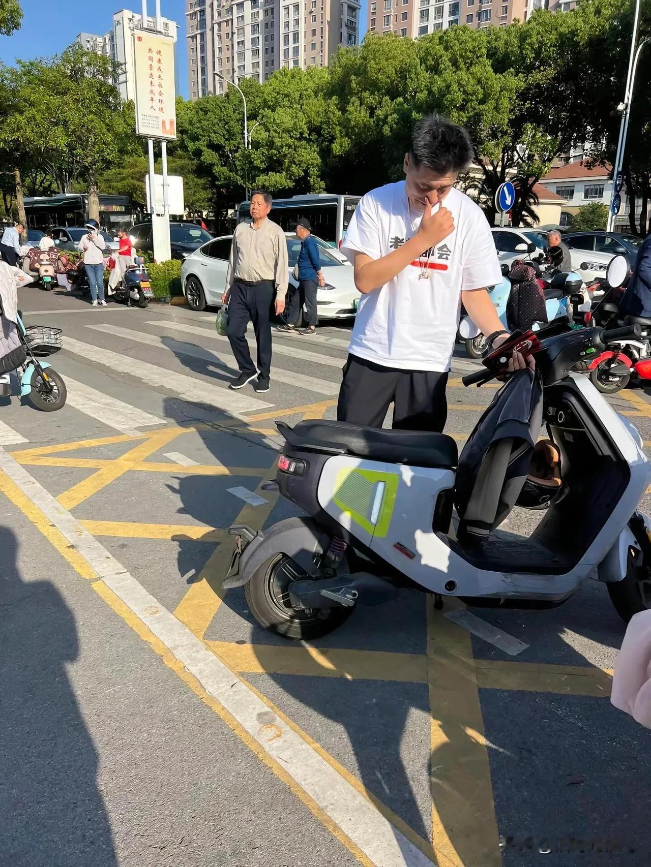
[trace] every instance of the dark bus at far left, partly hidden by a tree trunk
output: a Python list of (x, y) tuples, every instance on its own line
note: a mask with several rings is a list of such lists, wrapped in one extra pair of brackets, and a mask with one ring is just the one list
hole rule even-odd
[[(62, 192), (56, 196), (25, 198), (25, 217), (30, 229), (53, 226), (82, 226), (89, 219), (89, 197), (85, 193)], [(100, 225), (111, 238), (117, 230), (137, 222), (139, 212), (127, 196), (100, 195)]]

